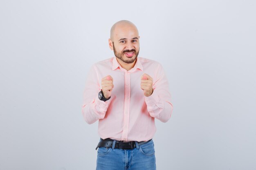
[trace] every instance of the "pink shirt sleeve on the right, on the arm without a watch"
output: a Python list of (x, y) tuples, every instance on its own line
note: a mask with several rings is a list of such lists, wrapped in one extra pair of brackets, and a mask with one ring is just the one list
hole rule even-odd
[(170, 119), (173, 105), (171, 104), (168, 81), (161, 64), (157, 67), (155, 80), (153, 79), (153, 93), (145, 97), (145, 102), (151, 117), (162, 122)]

